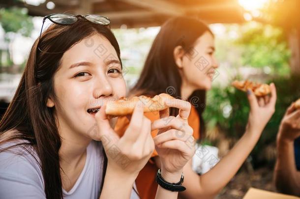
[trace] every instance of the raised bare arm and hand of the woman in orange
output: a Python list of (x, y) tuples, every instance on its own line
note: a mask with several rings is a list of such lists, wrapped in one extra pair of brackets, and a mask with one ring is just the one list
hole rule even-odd
[(213, 169), (199, 176), (192, 171), (191, 163), (184, 167), (183, 172), (186, 176), (184, 186), (187, 190), (180, 193), (180, 197), (188, 199), (214, 198), (226, 186), (240, 169), (274, 113), (276, 90), (273, 84), (271, 90), (272, 97), (270, 99), (268, 97), (256, 99), (253, 93), (248, 92), (251, 110), (246, 131), (240, 141)]

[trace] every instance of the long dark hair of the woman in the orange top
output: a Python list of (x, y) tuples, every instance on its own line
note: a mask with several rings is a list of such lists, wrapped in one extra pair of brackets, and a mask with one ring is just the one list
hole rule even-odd
[[(134, 95), (156, 95), (165, 92), (175, 98), (181, 98), (182, 79), (175, 62), (174, 49), (181, 46), (185, 53), (190, 53), (195, 41), (206, 31), (212, 34), (206, 24), (194, 18), (175, 17), (168, 20), (155, 37), (141, 76), (130, 92)], [(205, 132), (202, 117), (205, 109), (205, 98), (205, 90), (196, 90), (186, 99), (199, 114), (200, 138)], [(175, 116), (178, 114), (178, 110), (171, 109), (170, 114)]]

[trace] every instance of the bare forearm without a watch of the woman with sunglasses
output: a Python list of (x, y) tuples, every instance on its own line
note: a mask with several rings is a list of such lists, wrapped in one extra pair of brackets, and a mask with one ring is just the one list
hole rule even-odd
[(122, 176), (122, 174), (107, 168), (99, 199), (120, 199), (120, 196), (123, 199), (130, 199), (134, 181), (134, 176)]

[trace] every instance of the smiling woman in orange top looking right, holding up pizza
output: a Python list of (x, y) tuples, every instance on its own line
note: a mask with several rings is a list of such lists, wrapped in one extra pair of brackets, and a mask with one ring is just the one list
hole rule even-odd
[[(211, 88), (215, 69), (218, 67), (214, 51), (214, 37), (207, 25), (188, 17), (168, 20), (154, 39), (140, 79), (129, 96), (152, 96), (166, 92), (189, 101), (193, 107), (188, 124), (194, 130), (194, 138), (199, 139), (204, 133), (202, 113), (205, 93)], [(180, 193), (181, 198), (214, 198), (236, 174), (253, 149), (275, 111), (276, 90), (274, 84), (271, 84), (271, 97), (256, 98), (250, 90), (247, 94), (250, 113), (244, 135), (218, 164), (203, 175), (194, 172), (189, 161), (183, 168), (183, 185), (186, 191)], [(177, 115), (176, 112), (177, 110), (170, 109), (172, 115)], [(152, 126), (159, 118), (158, 113), (146, 116), (154, 121)], [(125, 118), (119, 118), (116, 131), (122, 134), (127, 123)], [(151, 133), (155, 138), (160, 132)], [(157, 188), (154, 176), (159, 167), (160, 157), (154, 152), (136, 180), (142, 199), (154, 198)]]

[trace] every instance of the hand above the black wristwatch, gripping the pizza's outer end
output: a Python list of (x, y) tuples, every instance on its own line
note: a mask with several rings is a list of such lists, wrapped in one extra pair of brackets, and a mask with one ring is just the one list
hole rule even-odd
[[(158, 129), (154, 138), (155, 149), (161, 160), (161, 170), (164, 176), (178, 182), (185, 164), (195, 153), (193, 129), (188, 125), (191, 104), (179, 99), (166, 101), (168, 107), (180, 109), (179, 114), (169, 116), (169, 109), (160, 111), (160, 119), (152, 122), (151, 130)], [(164, 177), (165, 178), (165, 177)]]

